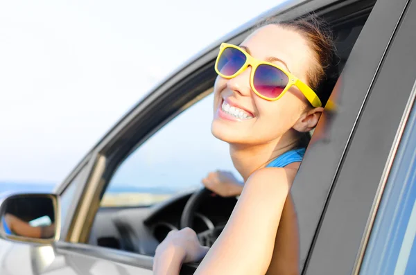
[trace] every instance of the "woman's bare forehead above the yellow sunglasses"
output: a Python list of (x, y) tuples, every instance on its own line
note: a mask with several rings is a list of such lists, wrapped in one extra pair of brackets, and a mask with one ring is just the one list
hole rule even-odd
[(287, 64), (287, 69), (295, 76), (306, 77), (305, 60), (311, 56), (310, 48), (304, 37), (295, 30), (275, 24), (266, 25), (249, 35), (241, 46), (247, 47), (252, 57), (259, 60), (277, 57)]

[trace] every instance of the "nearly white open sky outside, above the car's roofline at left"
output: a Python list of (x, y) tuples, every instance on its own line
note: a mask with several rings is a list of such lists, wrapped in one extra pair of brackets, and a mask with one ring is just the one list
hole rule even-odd
[(59, 182), (157, 81), (281, 2), (1, 1), (0, 181)]

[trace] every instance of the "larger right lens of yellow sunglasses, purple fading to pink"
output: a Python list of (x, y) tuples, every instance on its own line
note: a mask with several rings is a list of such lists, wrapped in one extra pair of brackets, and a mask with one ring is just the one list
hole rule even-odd
[(286, 73), (274, 66), (262, 64), (254, 73), (254, 88), (259, 94), (268, 98), (277, 98), (288, 85), (289, 78)]

